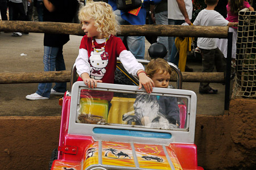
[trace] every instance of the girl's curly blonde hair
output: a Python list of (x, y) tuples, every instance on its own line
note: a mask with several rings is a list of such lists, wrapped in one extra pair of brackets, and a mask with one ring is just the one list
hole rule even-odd
[(94, 26), (104, 38), (120, 32), (119, 24), (115, 19), (113, 8), (105, 2), (88, 2), (79, 11), (80, 21), (93, 19)]

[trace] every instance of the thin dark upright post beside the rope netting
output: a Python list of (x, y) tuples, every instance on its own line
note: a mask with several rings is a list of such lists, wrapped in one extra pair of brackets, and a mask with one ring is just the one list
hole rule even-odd
[(232, 38), (233, 33), (228, 33), (228, 54), (226, 57), (226, 76), (225, 76), (225, 111), (229, 110), (229, 94), (230, 94), (230, 75), (231, 75), (231, 57), (232, 57)]

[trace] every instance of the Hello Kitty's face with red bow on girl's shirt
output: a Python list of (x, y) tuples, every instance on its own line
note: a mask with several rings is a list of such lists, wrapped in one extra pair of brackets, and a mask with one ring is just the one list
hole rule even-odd
[(90, 53), (90, 65), (97, 69), (105, 68), (109, 63), (109, 54), (105, 51), (96, 52), (95, 50)]

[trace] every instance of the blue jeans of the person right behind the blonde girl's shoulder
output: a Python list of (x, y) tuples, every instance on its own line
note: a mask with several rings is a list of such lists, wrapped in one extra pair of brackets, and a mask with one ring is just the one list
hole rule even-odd
[[(120, 25), (130, 25), (129, 22), (121, 18), (120, 10), (115, 10), (117, 20)], [(123, 40), (123, 37), (120, 37)], [(145, 54), (145, 37), (144, 36), (127, 36), (126, 37), (128, 50), (133, 53), (137, 59), (144, 59)]]

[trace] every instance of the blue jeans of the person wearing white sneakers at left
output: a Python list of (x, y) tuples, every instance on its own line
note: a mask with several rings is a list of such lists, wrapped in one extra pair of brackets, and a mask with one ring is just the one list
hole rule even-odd
[[(63, 46), (44, 46), (44, 71), (55, 71), (55, 69), (56, 71), (66, 70), (62, 49)], [(51, 94), (51, 88), (52, 83), (39, 83), (36, 93), (43, 97), (49, 97)], [(53, 89), (57, 92), (65, 92), (67, 89), (67, 83), (56, 83)]]

